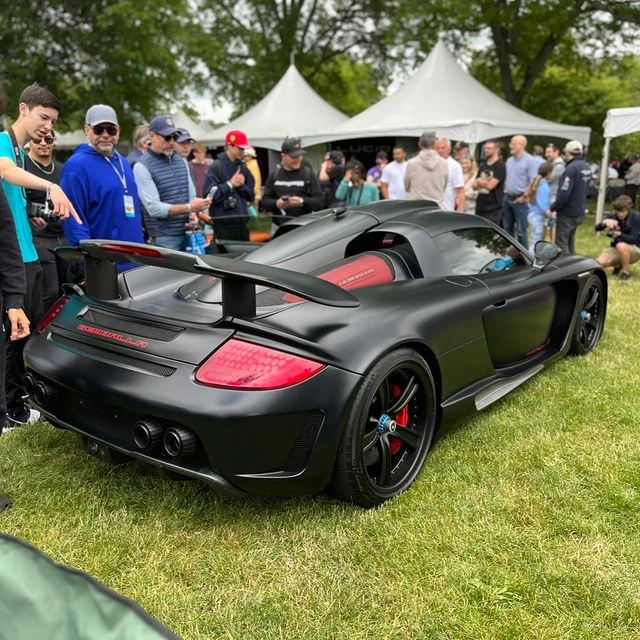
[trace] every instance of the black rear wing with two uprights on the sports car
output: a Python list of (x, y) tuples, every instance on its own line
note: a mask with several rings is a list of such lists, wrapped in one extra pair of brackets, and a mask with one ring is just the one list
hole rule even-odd
[(87, 295), (97, 300), (117, 300), (120, 297), (116, 264), (126, 261), (220, 278), (224, 316), (255, 316), (256, 285), (278, 289), (329, 307), (359, 305), (353, 295), (330, 282), (244, 260), (111, 240), (83, 240), (79, 247), (58, 247), (56, 254), (66, 261), (84, 261)]

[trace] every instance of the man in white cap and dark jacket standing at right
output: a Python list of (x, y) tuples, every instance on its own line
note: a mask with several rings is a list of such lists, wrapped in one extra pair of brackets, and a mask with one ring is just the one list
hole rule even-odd
[(556, 215), (556, 244), (563, 253), (568, 254), (575, 253), (576, 229), (585, 217), (591, 169), (584, 161), (581, 142), (567, 142), (563, 153), (567, 167), (560, 177), (556, 199), (547, 211), (547, 216)]

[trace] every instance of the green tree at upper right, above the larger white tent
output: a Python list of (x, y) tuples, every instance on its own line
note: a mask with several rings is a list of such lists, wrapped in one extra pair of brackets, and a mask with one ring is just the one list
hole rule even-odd
[[(567, 36), (606, 48), (613, 37), (637, 37), (635, 0), (397, 0), (398, 42), (425, 48), (434, 26), (452, 42), (488, 37), (502, 95), (523, 105), (535, 81)], [(633, 32), (629, 33), (629, 28)], [(426, 36), (424, 35), (426, 34)]]

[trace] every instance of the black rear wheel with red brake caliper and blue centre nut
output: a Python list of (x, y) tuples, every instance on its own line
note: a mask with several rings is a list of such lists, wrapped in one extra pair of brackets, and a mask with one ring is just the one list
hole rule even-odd
[(375, 507), (406, 491), (431, 446), (435, 397), (429, 365), (416, 351), (398, 349), (384, 356), (356, 393), (331, 491), (362, 507)]

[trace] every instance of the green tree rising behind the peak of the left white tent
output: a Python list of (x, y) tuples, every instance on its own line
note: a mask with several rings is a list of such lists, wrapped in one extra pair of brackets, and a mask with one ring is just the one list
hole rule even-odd
[(211, 83), (236, 113), (263, 98), (293, 57), (311, 86), (342, 111), (354, 113), (379, 97), (380, 76), (358, 64), (375, 58), (388, 26), (369, 0), (201, 0), (201, 19), (208, 35), (198, 49), (207, 52)]

